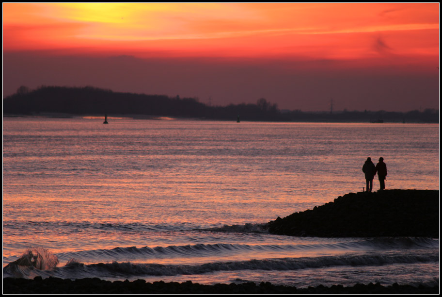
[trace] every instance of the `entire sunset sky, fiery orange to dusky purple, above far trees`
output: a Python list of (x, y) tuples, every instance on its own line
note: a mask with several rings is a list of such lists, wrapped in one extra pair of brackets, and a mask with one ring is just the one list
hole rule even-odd
[(3, 97), (20, 85), (438, 109), (439, 3), (3, 3)]

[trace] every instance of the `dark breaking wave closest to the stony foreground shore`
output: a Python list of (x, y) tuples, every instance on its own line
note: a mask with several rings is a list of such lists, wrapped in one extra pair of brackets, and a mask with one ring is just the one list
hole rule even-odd
[[(283, 259), (263, 259), (248, 261), (215, 262), (199, 265), (175, 265), (175, 264), (133, 264), (130, 262), (118, 263), (98, 263), (83, 264), (76, 260), (69, 261), (63, 267), (52, 268), (50, 271), (37, 273), (43, 276), (53, 276), (60, 278), (85, 278), (85, 277), (143, 277), (143, 276), (176, 276), (195, 275), (217, 271), (239, 271), (239, 270), (300, 270), (309, 268), (324, 268), (332, 266), (379, 266), (384, 264), (415, 264), (438, 262), (437, 254), (428, 255), (362, 255), (362, 256), (326, 256), (313, 258), (283, 258)], [(21, 265), (17, 265), (21, 266)], [(21, 266), (20, 270), (11, 271), (4, 268), (4, 277), (14, 275), (19, 271), (22, 278), (32, 278), (36, 275), (33, 266)], [(26, 268), (29, 270), (26, 271)], [(32, 273), (31, 273), (32, 272)]]

